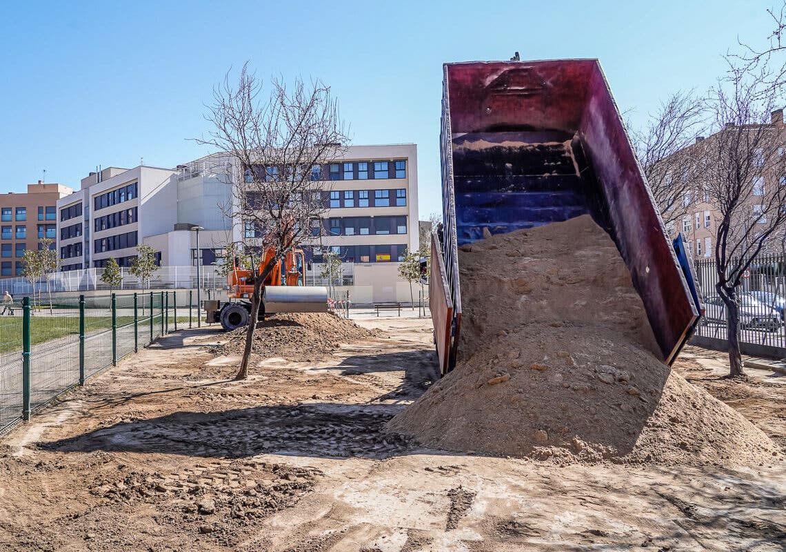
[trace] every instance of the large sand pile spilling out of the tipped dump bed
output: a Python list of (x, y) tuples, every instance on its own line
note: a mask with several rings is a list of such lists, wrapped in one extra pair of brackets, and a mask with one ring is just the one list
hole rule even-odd
[(589, 216), (459, 252), (459, 360), (389, 428), (449, 450), (755, 464), (778, 454), (659, 359), (623, 259)]

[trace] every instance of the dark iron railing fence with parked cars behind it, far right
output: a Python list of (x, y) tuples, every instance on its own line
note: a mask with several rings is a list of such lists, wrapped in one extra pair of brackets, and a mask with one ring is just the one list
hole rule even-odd
[[(716, 263), (714, 259), (702, 259), (697, 260), (695, 266), (704, 316), (696, 328), (694, 342), (725, 348), (727, 310), (715, 291)], [(744, 274), (738, 293), (743, 352), (786, 357), (786, 256), (758, 256)]]

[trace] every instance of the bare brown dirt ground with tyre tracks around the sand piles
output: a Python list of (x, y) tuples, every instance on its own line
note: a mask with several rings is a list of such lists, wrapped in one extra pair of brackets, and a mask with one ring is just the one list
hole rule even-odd
[[(321, 362), (211, 354), (211, 329), (123, 360), (0, 440), (0, 550), (786, 550), (786, 473), (444, 453), (384, 432), (431, 384), (428, 319)], [(677, 370), (786, 446), (783, 378)], [(755, 374), (754, 374), (755, 372)]]

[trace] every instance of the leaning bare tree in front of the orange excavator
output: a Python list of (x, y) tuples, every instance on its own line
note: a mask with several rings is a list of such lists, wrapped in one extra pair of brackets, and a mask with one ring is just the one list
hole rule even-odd
[(232, 158), (233, 224), (241, 226), (244, 250), (259, 252), (265, 262), (254, 278), (237, 379), (248, 377), (263, 282), (292, 248), (314, 235), (314, 228), (321, 230), (327, 173), (321, 167), (340, 156), (347, 141), (336, 100), (320, 81), (296, 79), (287, 86), (273, 79), (263, 97), (264, 92), (248, 63), (237, 84), (227, 73), (208, 106), (213, 129), (198, 140)]

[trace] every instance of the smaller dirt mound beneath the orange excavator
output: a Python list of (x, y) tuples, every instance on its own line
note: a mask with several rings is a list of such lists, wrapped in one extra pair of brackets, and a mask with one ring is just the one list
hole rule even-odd
[[(242, 355), (246, 328), (227, 333), (226, 337), (226, 342), (211, 352)], [(313, 361), (336, 351), (342, 343), (368, 337), (376, 337), (376, 332), (330, 313), (282, 313), (256, 326), (252, 352), (265, 357)]]

